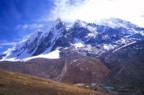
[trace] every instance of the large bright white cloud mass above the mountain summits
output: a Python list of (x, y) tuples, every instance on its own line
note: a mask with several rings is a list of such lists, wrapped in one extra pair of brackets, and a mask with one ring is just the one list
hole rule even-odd
[(142, 26), (142, 15), (143, 0), (55, 0), (55, 7), (44, 20), (50, 21), (60, 17), (67, 22), (77, 19), (92, 22), (101, 18), (116, 17)]

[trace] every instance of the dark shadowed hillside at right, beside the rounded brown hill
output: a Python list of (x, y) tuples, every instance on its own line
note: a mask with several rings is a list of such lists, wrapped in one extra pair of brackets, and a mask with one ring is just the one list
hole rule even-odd
[(105, 54), (103, 62), (112, 71), (108, 83), (127, 89), (133, 95), (144, 94), (144, 41)]

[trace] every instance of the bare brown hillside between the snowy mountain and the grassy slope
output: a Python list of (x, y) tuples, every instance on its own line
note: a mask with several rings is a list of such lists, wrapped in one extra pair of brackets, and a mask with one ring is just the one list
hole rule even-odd
[(0, 62), (0, 68), (68, 83), (96, 82), (101, 84), (110, 72), (98, 59), (91, 57), (3, 61)]

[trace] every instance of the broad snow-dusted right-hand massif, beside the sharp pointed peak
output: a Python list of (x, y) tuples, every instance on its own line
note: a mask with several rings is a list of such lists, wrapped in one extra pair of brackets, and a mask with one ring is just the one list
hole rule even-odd
[[(144, 28), (114, 18), (96, 23), (77, 20), (68, 31), (72, 34), (74, 47), (77, 47), (75, 45), (80, 47), (68, 48), (67, 51), (73, 50), (88, 56), (98, 57), (107, 51), (116, 51), (136, 41), (144, 40)], [(66, 52), (64, 55), (70, 53), (67, 51), (63, 51)]]

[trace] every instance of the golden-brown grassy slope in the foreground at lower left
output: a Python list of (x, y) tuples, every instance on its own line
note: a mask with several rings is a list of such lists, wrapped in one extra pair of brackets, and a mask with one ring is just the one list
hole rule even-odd
[(0, 95), (105, 95), (89, 89), (0, 69)]

